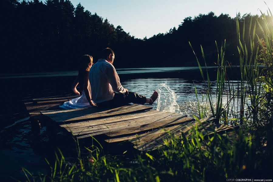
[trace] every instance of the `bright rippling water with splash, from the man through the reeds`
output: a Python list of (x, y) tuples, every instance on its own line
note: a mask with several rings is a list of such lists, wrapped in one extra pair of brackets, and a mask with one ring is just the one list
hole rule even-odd
[[(237, 81), (230, 81), (230, 84), (237, 84)], [(203, 81), (185, 80), (185, 79), (172, 79), (172, 78), (145, 78), (145, 79), (129, 79), (122, 82), (125, 88), (130, 91), (151, 96), (154, 90), (159, 92), (157, 101), (152, 105), (154, 109), (160, 111), (176, 112), (186, 114), (192, 117), (193, 114), (198, 116), (198, 104), (196, 100), (195, 87), (197, 90), (197, 97), (200, 103), (200, 110), (207, 108), (206, 115), (211, 116), (209, 100), (206, 97), (206, 86)], [(211, 81), (212, 89), (212, 103), (216, 107), (216, 81)], [(225, 95), (223, 96), (223, 107), (227, 104), (228, 85), (225, 86)], [(229, 96), (230, 98), (230, 96)], [(235, 99), (234, 104), (237, 106), (238, 100)]]

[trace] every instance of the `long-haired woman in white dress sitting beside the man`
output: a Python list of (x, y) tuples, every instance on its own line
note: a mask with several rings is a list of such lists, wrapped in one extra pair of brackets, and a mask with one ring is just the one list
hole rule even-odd
[(90, 84), (89, 84), (89, 70), (93, 65), (93, 58), (89, 55), (83, 55), (80, 57), (80, 66), (79, 66), (79, 74), (75, 79), (71, 89), (73, 93), (80, 95), (80, 92), (77, 90), (77, 86), (80, 86), (80, 90), (82, 91), (82, 96), (74, 98), (70, 101), (63, 103), (60, 106), (63, 109), (75, 109), (75, 108), (84, 108), (84, 107), (94, 107), (97, 106), (96, 103), (93, 103), (90, 95)]

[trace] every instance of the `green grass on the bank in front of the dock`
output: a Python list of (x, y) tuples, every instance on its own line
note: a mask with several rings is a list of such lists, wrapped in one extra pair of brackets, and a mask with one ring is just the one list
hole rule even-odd
[[(49, 175), (33, 176), (23, 169), (28, 181), (225, 181), (227, 178), (272, 178), (272, 141), (260, 136), (227, 134), (204, 136), (197, 126), (191, 136), (169, 133), (164, 147), (141, 153), (130, 162), (124, 156), (102, 155), (101, 147), (88, 148), (90, 155), (77, 162), (65, 160), (61, 151), (49, 164)], [(234, 131), (235, 133), (235, 131)], [(270, 138), (270, 137), (268, 137)], [(92, 150), (91, 150), (92, 149)], [(80, 151), (79, 151), (80, 152)]]

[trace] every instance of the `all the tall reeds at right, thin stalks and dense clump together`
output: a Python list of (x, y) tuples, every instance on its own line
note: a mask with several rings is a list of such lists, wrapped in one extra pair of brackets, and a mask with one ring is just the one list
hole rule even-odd
[[(200, 66), (200, 62), (189, 42), (190, 47), (196, 57), (201, 76), (206, 85), (206, 93), (209, 100), (212, 116), (216, 117), (219, 122), (224, 124), (234, 124), (244, 127), (257, 129), (269, 125), (272, 130), (272, 57), (273, 57), (273, 17), (270, 9), (270, 14), (266, 16), (262, 13), (261, 21), (251, 18), (250, 24), (245, 25), (245, 20), (242, 22), (242, 30), (240, 29), (241, 20), (236, 18), (237, 31), (237, 49), (240, 63), (240, 79), (237, 80), (237, 86), (230, 83), (227, 64), (225, 60), (225, 44), (221, 46), (220, 53), (218, 52), (217, 59), (217, 80), (216, 80), (216, 95), (213, 99), (212, 89), (208, 70), (206, 69), (206, 78)], [(269, 22), (268, 22), (269, 21)], [(256, 25), (262, 32), (262, 38), (256, 34)], [(246, 32), (246, 27), (248, 31)], [(217, 42), (216, 42), (217, 46)], [(217, 46), (218, 50), (218, 46)], [(203, 60), (206, 60), (201, 46)], [(264, 66), (262, 71), (259, 64)], [(224, 87), (227, 84), (228, 92), (224, 93)], [(197, 92), (196, 92), (197, 93)], [(223, 106), (223, 96), (227, 97), (227, 103)], [(197, 98), (197, 96), (196, 96)], [(216, 100), (213, 103), (213, 100)], [(198, 102), (199, 106), (199, 102)], [(203, 110), (202, 110), (203, 112)], [(200, 113), (200, 118), (204, 116)], [(240, 122), (237, 123), (236, 120)], [(218, 123), (219, 123), (218, 122)]]

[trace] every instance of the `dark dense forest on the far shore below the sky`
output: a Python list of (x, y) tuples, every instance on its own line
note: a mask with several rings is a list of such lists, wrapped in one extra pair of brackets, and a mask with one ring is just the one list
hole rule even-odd
[[(197, 55), (202, 45), (207, 65), (214, 65), (215, 41), (220, 46), (225, 39), (226, 58), (233, 65), (238, 61), (236, 18), (227, 14), (182, 18), (177, 29), (136, 39), (69, 0), (1, 0), (0, 12), (2, 73), (75, 70), (81, 55), (90, 54), (96, 62), (105, 47), (114, 50), (116, 68), (197, 66), (189, 41)], [(238, 17), (241, 27), (251, 19), (250, 14)]]

